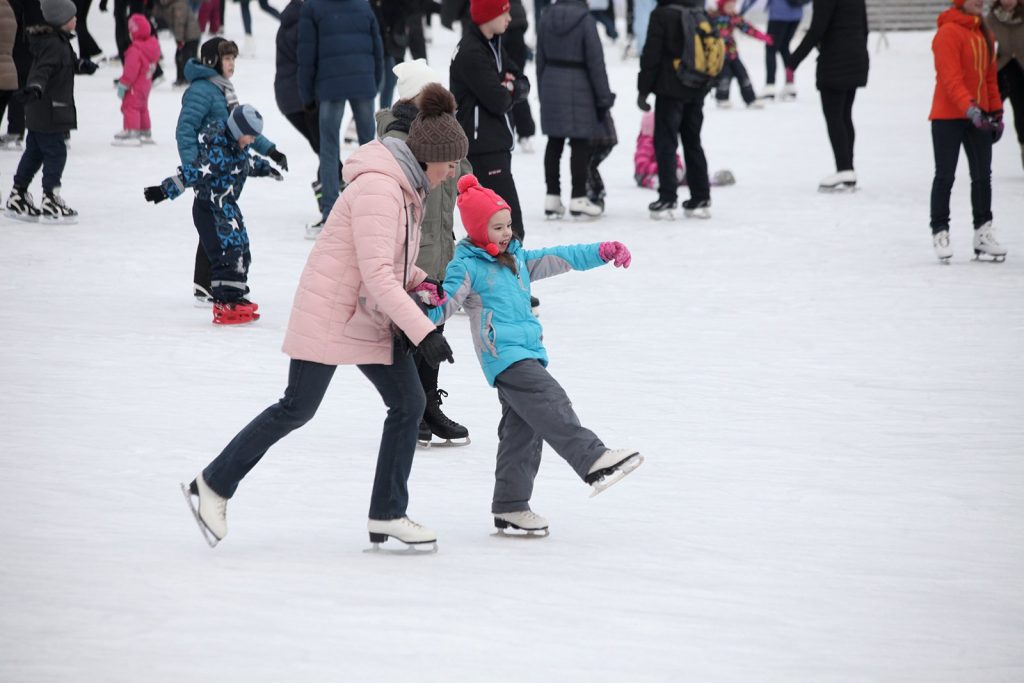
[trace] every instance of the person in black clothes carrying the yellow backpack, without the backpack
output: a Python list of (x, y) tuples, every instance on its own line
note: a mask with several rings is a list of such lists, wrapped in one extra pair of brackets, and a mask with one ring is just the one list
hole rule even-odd
[(650, 111), (647, 98), (654, 94), (654, 158), (657, 160), (657, 201), (647, 208), (652, 218), (672, 216), (676, 208), (676, 140), (683, 143), (683, 161), (690, 199), (683, 202), (687, 216), (711, 217), (711, 182), (708, 159), (700, 143), (703, 100), (711, 91), (689, 88), (676, 75), (673, 65), (683, 53), (683, 27), (679, 7), (702, 8), (702, 0), (668, 0), (650, 13), (647, 38), (640, 54), (637, 104)]

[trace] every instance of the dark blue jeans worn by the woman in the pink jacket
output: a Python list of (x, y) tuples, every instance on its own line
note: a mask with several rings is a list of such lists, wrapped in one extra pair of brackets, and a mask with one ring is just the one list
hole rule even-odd
[[(416, 454), (416, 437), (427, 404), (416, 362), (412, 355), (396, 354), (391, 366), (356, 367), (387, 405), (370, 497), (370, 518), (403, 517), (409, 507), (408, 483)], [(335, 370), (336, 366), (293, 359), (284, 397), (260, 413), (203, 470), (203, 478), (210, 488), (224, 498), (232, 497), (239, 482), (271, 445), (312, 419)]]

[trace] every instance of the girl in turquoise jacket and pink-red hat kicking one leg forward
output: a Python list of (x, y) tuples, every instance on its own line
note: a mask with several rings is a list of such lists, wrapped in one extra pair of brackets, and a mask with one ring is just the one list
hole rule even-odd
[(548, 521), (529, 509), (534, 479), (547, 441), (597, 495), (643, 462), (636, 450), (607, 449), (580, 424), (565, 390), (548, 374), (541, 323), (530, 309), (529, 283), (611, 261), (629, 267), (618, 242), (526, 250), (512, 233), (509, 205), (474, 175), (459, 180), (459, 213), (469, 237), (445, 271), (434, 323), (460, 306), (470, 316), (473, 346), (487, 382), (498, 389), (498, 464), (492, 512), (495, 526), (547, 536)]

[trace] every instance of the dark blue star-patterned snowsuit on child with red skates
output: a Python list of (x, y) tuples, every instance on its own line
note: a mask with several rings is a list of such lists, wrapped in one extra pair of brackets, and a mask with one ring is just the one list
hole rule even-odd
[(199, 134), (199, 155), (160, 183), (177, 199), (185, 187), (196, 191), (193, 218), (200, 242), (210, 258), (212, 294), (218, 301), (237, 301), (249, 292), (249, 234), (239, 208), (239, 196), (249, 176), (280, 179), (281, 174), (259, 157), (242, 150), (225, 122), (213, 121)]

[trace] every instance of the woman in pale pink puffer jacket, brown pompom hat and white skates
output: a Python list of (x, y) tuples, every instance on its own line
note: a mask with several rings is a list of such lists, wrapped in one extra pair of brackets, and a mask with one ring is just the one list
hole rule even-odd
[(436, 549), (436, 535), (406, 516), (407, 482), (426, 397), (411, 353), (452, 361), (444, 337), (410, 292), (437, 289), (416, 266), (427, 191), (455, 177), (469, 140), (455, 98), (423, 89), (406, 141), (375, 140), (345, 162), (348, 185), (306, 261), (284, 351), (292, 358), (285, 396), (261, 413), (182, 488), (207, 542), (227, 533), (227, 500), (267, 450), (316, 413), (337, 366), (354, 365), (388, 408), (370, 499), (370, 540), (389, 537)]

